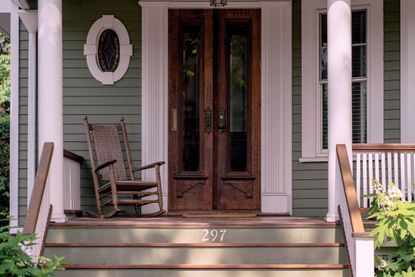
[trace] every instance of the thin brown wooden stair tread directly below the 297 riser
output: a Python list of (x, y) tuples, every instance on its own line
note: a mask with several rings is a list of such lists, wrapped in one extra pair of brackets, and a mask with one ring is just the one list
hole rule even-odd
[(155, 242), (155, 243), (107, 243), (107, 242), (48, 242), (46, 247), (151, 247), (151, 248), (237, 248), (237, 247), (344, 247), (344, 243), (170, 243), (170, 242)]

